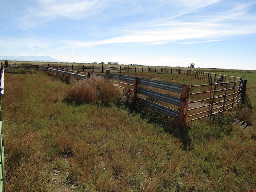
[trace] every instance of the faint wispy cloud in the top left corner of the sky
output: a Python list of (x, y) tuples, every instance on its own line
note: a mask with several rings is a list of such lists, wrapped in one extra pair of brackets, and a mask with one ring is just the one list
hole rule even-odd
[(34, 28), (56, 19), (80, 19), (98, 14), (108, 0), (37, 0), (36, 6), (29, 6), (18, 18), (20, 28)]

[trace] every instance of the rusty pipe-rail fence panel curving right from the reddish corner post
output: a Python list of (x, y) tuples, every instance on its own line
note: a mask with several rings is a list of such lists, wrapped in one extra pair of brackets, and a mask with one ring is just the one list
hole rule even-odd
[(185, 123), (230, 110), (242, 98), (243, 79), (188, 87)]

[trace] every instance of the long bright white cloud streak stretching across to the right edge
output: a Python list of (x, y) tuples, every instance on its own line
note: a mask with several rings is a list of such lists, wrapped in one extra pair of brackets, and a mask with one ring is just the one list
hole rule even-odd
[[(243, 25), (240, 29), (237, 26), (223, 26), (213, 23), (181, 23), (176, 26), (163, 26), (162, 28), (136, 30), (129, 34), (108, 38), (98, 41), (62, 41), (63, 44), (71, 47), (88, 47), (98, 46), (104, 44), (122, 44), (122, 43), (135, 43), (135, 44), (168, 44), (178, 40), (197, 40), (199, 42), (212, 42), (222, 40), (226, 36), (244, 35), (255, 33), (256, 28), (251, 25)], [(221, 39), (220, 39), (221, 38)], [(210, 40), (209, 40), (210, 39)], [(185, 44), (188, 44), (185, 43)], [(184, 43), (183, 43), (184, 44)]]

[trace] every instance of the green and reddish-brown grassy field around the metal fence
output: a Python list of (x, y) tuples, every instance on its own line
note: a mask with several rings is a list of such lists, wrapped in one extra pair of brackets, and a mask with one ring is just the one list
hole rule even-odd
[[(67, 101), (72, 84), (44, 72), (6, 70), (5, 190), (256, 190), (256, 72), (234, 72), (240, 74), (248, 79), (252, 108), (241, 105), (180, 129), (127, 103)], [(182, 75), (137, 75), (191, 83)], [(236, 118), (250, 125), (243, 129)]]

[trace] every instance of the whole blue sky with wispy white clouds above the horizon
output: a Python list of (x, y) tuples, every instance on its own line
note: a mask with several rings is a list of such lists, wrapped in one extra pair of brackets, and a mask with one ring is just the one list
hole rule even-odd
[(0, 0), (0, 55), (256, 70), (256, 0)]

